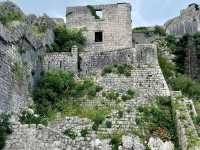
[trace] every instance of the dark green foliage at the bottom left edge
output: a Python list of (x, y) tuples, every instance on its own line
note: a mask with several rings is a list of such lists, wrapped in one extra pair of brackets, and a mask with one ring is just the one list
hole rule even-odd
[(12, 133), (10, 117), (5, 113), (0, 114), (0, 150), (4, 148), (7, 136)]

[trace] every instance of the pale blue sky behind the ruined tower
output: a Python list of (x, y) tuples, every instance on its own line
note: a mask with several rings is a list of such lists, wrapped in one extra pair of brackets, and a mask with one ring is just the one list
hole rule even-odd
[[(0, 0), (3, 1), (3, 0)], [(180, 10), (200, 0), (11, 0), (26, 14), (51, 17), (65, 16), (67, 6), (129, 2), (132, 5), (133, 26), (162, 25), (168, 19), (179, 15)]]

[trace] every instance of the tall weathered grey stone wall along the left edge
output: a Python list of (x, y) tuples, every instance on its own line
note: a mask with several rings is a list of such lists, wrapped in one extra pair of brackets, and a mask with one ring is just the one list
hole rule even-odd
[[(49, 43), (50, 34), (45, 35)], [(41, 42), (43, 41), (43, 42)], [(31, 90), (42, 72), (42, 57), (45, 52), (45, 40), (35, 37), (29, 28), (19, 24), (8, 30), (0, 23), (0, 112), (19, 112), (31, 101), (28, 91)], [(22, 77), (20, 84), (15, 78), (16, 64), (20, 64)]]

